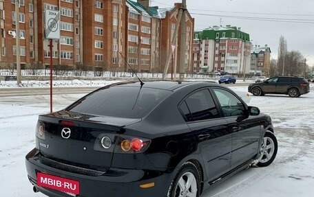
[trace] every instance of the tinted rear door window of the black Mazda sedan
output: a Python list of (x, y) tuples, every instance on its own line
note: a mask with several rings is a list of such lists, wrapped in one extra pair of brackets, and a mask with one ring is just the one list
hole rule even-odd
[(198, 121), (219, 117), (216, 105), (208, 89), (189, 95), (180, 106), (187, 121)]

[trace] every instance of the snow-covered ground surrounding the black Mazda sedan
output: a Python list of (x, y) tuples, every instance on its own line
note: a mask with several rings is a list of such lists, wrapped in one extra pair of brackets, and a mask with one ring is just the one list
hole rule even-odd
[[(34, 83), (32, 86), (39, 84)], [(247, 86), (235, 84), (229, 87), (236, 91), (247, 91)], [(82, 96), (83, 94), (54, 95), (54, 111), (64, 108)], [(39, 114), (49, 113), (49, 99), (49, 95), (0, 97), (1, 196), (45, 196), (32, 192), (32, 185), (25, 170), (25, 154), (35, 146), (36, 121)], [(311, 93), (298, 98), (287, 95), (263, 97), (251, 95), (249, 105), (258, 106), (262, 113), (271, 115), (273, 119), (279, 144), (278, 155), (269, 167), (243, 170), (220, 185), (205, 191), (202, 197), (313, 196), (313, 104), (313, 84)]]

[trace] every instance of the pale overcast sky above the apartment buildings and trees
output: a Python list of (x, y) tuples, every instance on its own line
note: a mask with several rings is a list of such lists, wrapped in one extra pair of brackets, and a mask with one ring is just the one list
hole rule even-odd
[[(176, 2), (182, 0), (151, 0), (151, 6), (169, 8)], [(275, 59), (279, 38), (284, 36), (288, 51), (300, 51), (306, 63), (314, 65), (313, 0), (187, 0), (187, 9), (196, 30), (213, 25), (241, 27), (253, 45), (268, 45)]]

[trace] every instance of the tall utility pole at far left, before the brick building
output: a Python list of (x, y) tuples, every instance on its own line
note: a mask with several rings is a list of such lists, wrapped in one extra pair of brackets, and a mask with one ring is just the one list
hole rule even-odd
[(19, 0), (15, 0), (15, 31), (17, 32), (16, 36), (16, 52), (17, 52), (17, 86), (21, 84), (21, 63), (20, 63), (20, 45), (19, 45)]

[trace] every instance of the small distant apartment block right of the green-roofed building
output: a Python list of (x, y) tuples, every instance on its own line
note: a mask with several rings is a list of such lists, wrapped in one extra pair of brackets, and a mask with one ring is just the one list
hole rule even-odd
[(259, 76), (269, 76), (271, 66), (271, 49), (265, 45), (255, 45), (251, 51), (251, 73)]

